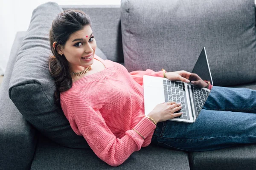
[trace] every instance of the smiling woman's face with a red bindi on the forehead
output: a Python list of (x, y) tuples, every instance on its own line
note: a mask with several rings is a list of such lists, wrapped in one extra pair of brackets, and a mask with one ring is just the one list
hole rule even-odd
[(62, 51), (70, 64), (70, 71), (80, 72), (92, 65), (96, 46), (93, 31), (89, 25), (71, 34)]

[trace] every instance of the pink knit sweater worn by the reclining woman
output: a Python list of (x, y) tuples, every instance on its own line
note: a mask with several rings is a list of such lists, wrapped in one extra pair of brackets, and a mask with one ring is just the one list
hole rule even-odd
[[(73, 82), (60, 94), (62, 110), (77, 135), (111, 166), (122, 164), (150, 144), (156, 125), (145, 118), (143, 75), (163, 77), (163, 71), (132, 71), (111, 60), (105, 69)], [(133, 130), (137, 130), (145, 140)]]

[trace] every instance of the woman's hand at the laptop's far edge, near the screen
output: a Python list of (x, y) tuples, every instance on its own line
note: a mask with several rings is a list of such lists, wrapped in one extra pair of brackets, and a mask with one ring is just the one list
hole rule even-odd
[(166, 78), (172, 81), (182, 81), (182, 82), (190, 82), (189, 77), (191, 73), (185, 70), (181, 71), (173, 71), (173, 72), (167, 72)]

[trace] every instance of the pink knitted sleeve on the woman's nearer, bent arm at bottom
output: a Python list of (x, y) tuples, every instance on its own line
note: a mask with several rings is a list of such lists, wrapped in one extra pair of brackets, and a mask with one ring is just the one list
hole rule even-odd
[(140, 134), (146, 138), (156, 128), (151, 120), (144, 117), (134, 127), (140, 134), (134, 130), (128, 130), (125, 136), (118, 139), (106, 125), (100, 111), (91, 108), (85, 102), (79, 102), (82, 101), (81, 96), (78, 98), (79, 100), (73, 102), (74, 104), (67, 104), (64, 99), (61, 99), (62, 110), (74, 132), (84, 136), (99, 159), (111, 166), (119, 166), (134, 151), (140, 150), (144, 142)]

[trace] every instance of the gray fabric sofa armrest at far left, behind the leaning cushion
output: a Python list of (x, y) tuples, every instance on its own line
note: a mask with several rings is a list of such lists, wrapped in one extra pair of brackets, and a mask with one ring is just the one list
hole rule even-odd
[(29, 170), (37, 142), (36, 130), (17, 110), (8, 95), (12, 69), (24, 33), (16, 34), (0, 88), (0, 169)]

